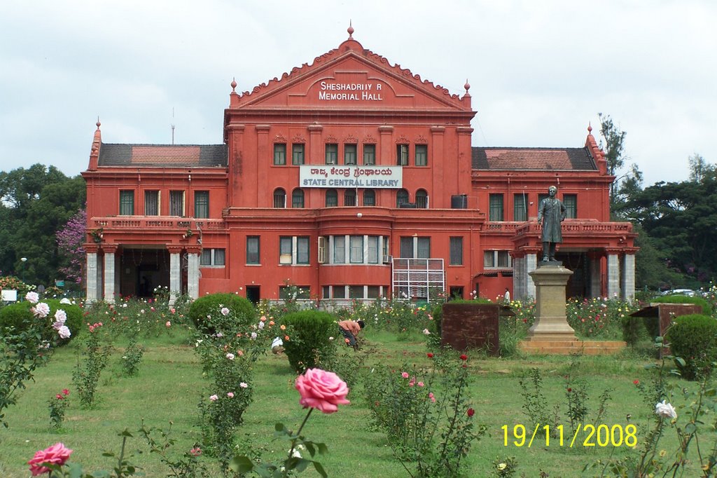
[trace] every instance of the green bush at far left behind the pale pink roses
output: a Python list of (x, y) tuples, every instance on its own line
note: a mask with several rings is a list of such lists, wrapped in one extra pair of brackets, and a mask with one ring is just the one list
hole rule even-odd
[(80, 329), (82, 329), (82, 309), (80, 309), (80, 306), (75, 304), (60, 304), (60, 301), (57, 299), (45, 299), (42, 300), (42, 302), (47, 304), (50, 309), (49, 316), (45, 319), (37, 319), (34, 317), (34, 314), (30, 310), (34, 304), (28, 301), (16, 302), (15, 304), (4, 306), (0, 309), (0, 333), (6, 334), (9, 327), (13, 327), (15, 333), (24, 332), (34, 321), (43, 320), (44, 329), (42, 338), (45, 340), (50, 339), (57, 334), (57, 332), (52, 329), (52, 322), (54, 322), (54, 314), (58, 309), (64, 310), (65, 314), (67, 314), (65, 325), (70, 329), (72, 335), (69, 339), (59, 339), (57, 346), (61, 347), (67, 344), (67, 342), (70, 342), (70, 340), (80, 333)]

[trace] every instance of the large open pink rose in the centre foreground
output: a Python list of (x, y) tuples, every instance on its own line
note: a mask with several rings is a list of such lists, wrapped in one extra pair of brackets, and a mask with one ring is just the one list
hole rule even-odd
[(333, 372), (320, 368), (310, 368), (296, 378), (296, 390), (299, 390), (299, 403), (304, 407), (318, 408), (323, 413), (333, 413), (339, 404), (351, 403), (346, 400), (348, 386)]

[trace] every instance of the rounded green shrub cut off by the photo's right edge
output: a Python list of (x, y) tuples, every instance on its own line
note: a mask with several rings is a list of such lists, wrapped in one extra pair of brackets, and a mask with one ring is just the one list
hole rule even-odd
[(685, 361), (685, 365), (678, 364), (684, 378), (711, 374), (712, 362), (717, 362), (717, 320), (702, 314), (675, 317), (665, 339), (673, 355)]

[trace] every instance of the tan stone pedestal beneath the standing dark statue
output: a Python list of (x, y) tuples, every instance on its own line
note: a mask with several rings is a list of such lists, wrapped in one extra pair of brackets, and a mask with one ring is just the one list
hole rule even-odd
[(575, 342), (575, 331), (565, 316), (565, 288), (572, 271), (560, 261), (541, 261), (530, 273), (536, 284), (536, 322), (527, 341)]

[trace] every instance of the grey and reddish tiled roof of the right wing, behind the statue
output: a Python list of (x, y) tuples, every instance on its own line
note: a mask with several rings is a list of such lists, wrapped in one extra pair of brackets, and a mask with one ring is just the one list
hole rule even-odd
[(473, 147), (473, 169), (531, 169), (597, 171), (587, 148), (484, 148)]

